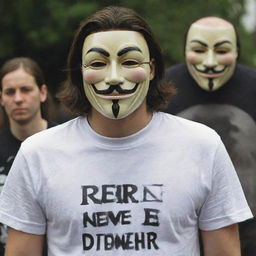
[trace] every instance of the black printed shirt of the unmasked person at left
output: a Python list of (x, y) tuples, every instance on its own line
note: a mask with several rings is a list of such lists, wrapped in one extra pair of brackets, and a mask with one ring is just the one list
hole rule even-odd
[[(54, 122), (48, 122), (47, 128), (55, 125)], [(0, 129), (0, 193), (21, 143), (12, 135), (8, 125)], [(0, 256), (4, 255), (6, 236), (7, 228), (0, 223)]]

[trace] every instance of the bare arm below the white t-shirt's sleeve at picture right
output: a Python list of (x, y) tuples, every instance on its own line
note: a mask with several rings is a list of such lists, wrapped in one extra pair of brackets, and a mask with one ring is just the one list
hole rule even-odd
[(205, 256), (241, 256), (238, 225), (201, 231)]

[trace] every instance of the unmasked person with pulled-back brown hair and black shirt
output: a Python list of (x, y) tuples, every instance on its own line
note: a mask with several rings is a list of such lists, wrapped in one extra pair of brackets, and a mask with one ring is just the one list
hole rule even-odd
[[(47, 86), (43, 72), (32, 59), (17, 57), (0, 70), (0, 100), (5, 124), (0, 129), (0, 193), (22, 141), (55, 125), (43, 114)], [(4, 254), (6, 225), (0, 225), (0, 255)]]

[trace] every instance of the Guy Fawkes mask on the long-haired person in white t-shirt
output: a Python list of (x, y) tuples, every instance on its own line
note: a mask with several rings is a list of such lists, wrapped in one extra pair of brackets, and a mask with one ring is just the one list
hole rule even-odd
[(121, 119), (145, 100), (151, 71), (144, 37), (135, 31), (105, 31), (86, 37), (82, 52), (85, 94), (105, 117)]

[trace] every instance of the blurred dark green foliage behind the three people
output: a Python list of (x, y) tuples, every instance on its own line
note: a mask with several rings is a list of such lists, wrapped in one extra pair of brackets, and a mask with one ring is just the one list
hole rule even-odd
[(245, 0), (0, 0), (0, 64), (14, 56), (29, 56), (42, 66), (55, 92), (65, 78), (63, 69), (73, 34), (80, 22), (108, 5), (136, 10), (153, 28), (166, 65), (183, 62), (184, 34), (204, 16), (231, 21), (240, 34), (240, 62), (256, 66), (255, 33), (241, 24)]

